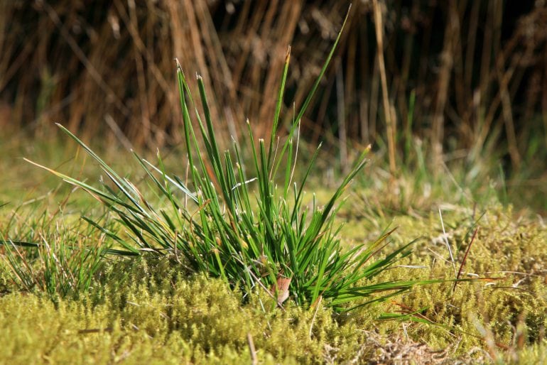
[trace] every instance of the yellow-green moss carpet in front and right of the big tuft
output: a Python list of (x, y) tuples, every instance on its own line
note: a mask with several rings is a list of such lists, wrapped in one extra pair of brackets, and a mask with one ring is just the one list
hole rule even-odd
[[(392, 268), (374, 280), (454, 278), (437, 209), (384, 212), (367, 219), (352, 214), (354, 205), (345, 209), (342, 239), (348, 245), (372, 241), (389, 222), (399, 229), (385, 253), (418, 239), (414, 254), (400, 264), (423, 267)], [(21, 234), (27, 229), (39, 236), (44, 227), (38, 217), (36, 221), (27, 219), (13, 227)], [(451, 282), (416, 286), (410, 293), (350, 315), (335, 315), (323, 307), (315, 313), (314, 308), (304, 310), (291, 303), (286, 312), (272, 309), (270, 298), (259, 288), (251, 298), (242, 298), (220, 280), (189, 276), (173, 259), (107, 263), (87, 294), (53, 304), (39, 295), (17, 293), (2, 259), (0, 363), (249, 363), (248, 334), (264, 364), (362, 362), (380, 359), (380, 353), (395, 344), (416, 347), (416, 356), (426, 356), (418, 352), (417, 343), (430, 349), (448, 347), (445, 355), (452, 361), (480, 363), (493, 357), (515, 364), (544, 362), (547, 229), (541, 220), (499, 205), (483, 209), (454, 205), (443, 209), (443, 222), (456, 269), (473, 229), (479, 227), (462, 278), (474, 274), (492, 280), (458, 283), (454, 293)], [(58, 238), (78, 232), (63, 234)], [(90, 231), (88, 239), (98, 237)], [(376, 320), (382, 312), (403, 308), (426, 308), (421, 315), (436, 325)], [(518, 344), (520, 338), (524, 341)]]

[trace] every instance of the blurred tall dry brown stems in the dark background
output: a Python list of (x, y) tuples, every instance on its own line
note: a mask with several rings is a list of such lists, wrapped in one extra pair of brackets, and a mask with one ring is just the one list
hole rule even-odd
[[(247, 118), (266, 133), (288, 45), (286, 122), (348, 6), (0, 0), (1, 129), (42, 136), (59, 121), (87, 139), (178, 143), (176, 57), (203, 76), (224, 136)], [(546, 1), (353, 1), (304, 134), (339, 146), (342, 160), (354, 143), (401, 153), (420, 138), (437, 155), (503, 151), (518, 168), (547, 149), (546, 38)]]

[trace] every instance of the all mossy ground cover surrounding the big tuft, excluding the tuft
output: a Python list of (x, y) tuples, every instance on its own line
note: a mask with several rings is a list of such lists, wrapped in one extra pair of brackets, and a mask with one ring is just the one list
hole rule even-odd
[[(21, 151), (28, 153), (28, 148)], [(66, 151), (70, 156), (73, 152)], [(42, 239), (52, 246), (105, 241), (79, 219), (82, 211), (101, 217), (104, 212), (96, 202), (82, 192), (58, 188), (56, 180), (25, 165), (21, 170), (26, 175), (4, 167), (2, 201), (8, 204), (0, 208), (3, 236)], [(65, 168), (80, 170), (82, 164), (70, 162)], [(374, 175), (373, 168), (365, 173)], [(397, 227), (389, 247), (416, 239), (413, 254), (381, 273), (378, 281), (451, 280), (460, 266), (460, 277), (481, 280), (416, 286), (383, 303), (337, 314), (321, 303), (306, 309), (288, 301), (281, 310), (258, 288), (243, 298), (222, 280), (189, 273), (177, 256), (108, 256), (90, 278), (87, 292), (60, 298), (39, 289), (47, 267), (36, 249), (18, 249), (33, 263), (36, 279), (25, 288), (0, 248), (0, 362), (226, 364), (256, 358), (264, 364), (544, 363), (543, 219), (534, 212), (516, 212), (494, 197), (465, 202), (454, 193), (457, 189), (428, 199), (416, 191), (411, 203), (402, 206), (394, 194), (379, 194), (378, 187), (389, 182), (377, 179), (374, 184), (357, 181), (347, 192), (338, 218), (345, 224), (340, 232), (344, 248)], [(36, 196), (53, 192), (28, 202), (21, 187), (31, 185)], [(328, 191), (317, 186), (320, 200)], [(453, 262), (445, 238), (453, 248)]]

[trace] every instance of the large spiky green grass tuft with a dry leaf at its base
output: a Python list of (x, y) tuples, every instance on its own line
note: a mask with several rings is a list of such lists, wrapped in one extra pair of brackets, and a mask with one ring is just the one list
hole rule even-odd
[[(349, 310), (402, 293), (417, 282), (374, 283), (374, 277), (398, 258), (408, 255), (409, 244), (377, 258), (377, 252), (387, 244), (389, 232), (373, 244), (359, 244), (345, 252), (337, 238), (340, 227), (334, 224), (334, 218), (340, 199), (353, 178), (362, 171), (368, 149), (362, 151), (322, 207), (315, 197), (309, 206), (303, 204), (305, 182), (313, 171), (319, 148), (305, 168), (302, 181), (293, 181), (299, 121), (325, 73), (340, 34), (303, 107), (293, 119), (286, 140), (280, 143), (277, 131), (290, 48), (286, 54), (269, 143), (256, 138), (248, 123), (247, 146), (242, 147), (234, 141), (232, 153), (220, 152), (202, 77), (197, 76), (197, 86), (205, 121), (197, 111), (188, 80), (178, 65), (190, 183), (168, 174), (159, 153), (158, 167), (134, 153), (167, 207), (154, 207), (133, 182), (122, 178), (63, 126), (60, 128), (99, 163), (114, 185), (104, 183), (99, 189), (56, 170), (46, 169), (89, 192), (117, 216), (125, 229), (122, 233), (85, 218), (120, 246), (119, 250), (111, 251), (113, 253), (182, 256), (184, 265), (191, 271), (222, 278), (232, 287), (241, 288), (244, 295), (261, 288), (280, 307), (291, 298), (299, 305), (310, 306), (323, 301), (336, 310)], [(192, 109), (195, 109), (197, 133), (190, 119)], [(243, 151), (249, 151), (251, 155), (251, 168), (245, 168)], [(256, 185), (256, 190), (251, 189), (251, 184)], [(367, 284), (362, 284), (364, 282)], [(356, 300), (361, 301), (348, 306)]]

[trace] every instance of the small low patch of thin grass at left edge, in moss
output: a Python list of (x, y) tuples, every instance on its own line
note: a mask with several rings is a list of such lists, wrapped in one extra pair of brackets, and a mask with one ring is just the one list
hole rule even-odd
[[(0, 267), (11, 276), (0, 280), (4, 290), (11, 291), (14, 284), (28, 293), (46, 293), (55, 301), (77, 298), (89, 290), (109, 249), (106, 236), (94, 235), (94, 243), (88, 244), (90, 227), (67, 219), (62, 209), (48, 214), (34, 207), (28, 215), (18, 210), (0, 231)], [(22, 226), (13, 227), (21, 235), (19, 240), (5, 238), (12, 235), (9, 228), (14, 221)]]

